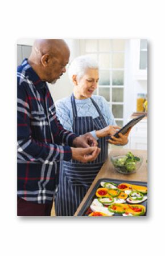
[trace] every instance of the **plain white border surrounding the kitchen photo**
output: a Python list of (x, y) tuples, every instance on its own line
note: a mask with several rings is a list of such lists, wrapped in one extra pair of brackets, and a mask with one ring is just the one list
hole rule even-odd
[[(163, 2), (28, 0), (1, 3), (1, 255), (163, 254)], [(101, 220), (16, 217), (16, 40), (99, 37), (146, 38), (150, 43), (149, 216)]]

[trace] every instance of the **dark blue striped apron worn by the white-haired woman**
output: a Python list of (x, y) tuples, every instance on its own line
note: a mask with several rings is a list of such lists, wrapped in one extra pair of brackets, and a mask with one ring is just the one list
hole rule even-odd
[[(75, 97), (71, 96), (73, 111), (73, 132), (83, 135), (86, 132), (100, 130), (107, 126), (104, 117), (96, 102), (92, 100), (97, 109), (98, 117), (77, 116)], [(62, 161), (60, 165), (59, 188), (55, 197), (56, 216), (73, 216), (83, 200), (87, 190), (98, 174), (102, 164), (108, 156), (108, 143), (105, 138), (98, 140), (98, 147), (101, 148), (100, 155), (95, 161), (82, 164), (77, 160)]]

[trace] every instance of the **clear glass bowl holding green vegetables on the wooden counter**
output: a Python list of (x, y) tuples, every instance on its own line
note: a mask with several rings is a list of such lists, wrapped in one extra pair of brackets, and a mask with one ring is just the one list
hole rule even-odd
[[(137, 172), (137, 170), (142, 165), (143, 157), (135, 156), (135, 157), (138, 157), (139, 161), (134, 161), (134, 162), (127, 161), (127, 162), (125, 162), (125, 164), (123, 164), (125, 157), (126, 157), (126, 155), (110, 156), (110, 160), (112, 161), (114, 169), (117, 170), (117, 172), (122, 173), (122, 174), (131, 174), (131, 173)], [(121, 159), (121, 162), (118, 162), (118, 159)]]

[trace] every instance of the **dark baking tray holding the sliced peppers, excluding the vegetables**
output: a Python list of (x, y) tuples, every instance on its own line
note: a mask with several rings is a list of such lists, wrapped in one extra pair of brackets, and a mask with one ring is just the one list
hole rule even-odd
[[(102, 188), (100, 185), (101, 182), (113, 182), (116, 183), (117, 185), (120, 183), (128, 183), (128, 184), (134, 184), (134, 185), (139, 185), (139, 186), (147, 186), (147, 182), (143, 181), (126, 181), (126, 180), (111, 180), (110, 178), (101, 178), (100, 180), (97, 181), (96, 185), (92, 189), (92, 192), (90, 192), (89, 197), (86, 199), (86, 202), (84, 203), (83, 207), (81, 208), (80, 212), (77, 214), (77, 216), (88, 216), (88, 210), (90, 204), (92, 204), (92, 201), (94, 198), (97, 198), (95, 193), (98, 188)], [(127, 202), (124, 204), (128, 204)], [(144, 205), (146, 207), (146, 213), (143, 216), (147, 215), (147, 200), (142, 202), (139, 205)], [(122, 214), (115, 213), (113, 216), (122, 216)], [(139, 216), (140, 217), (140, 216)]]

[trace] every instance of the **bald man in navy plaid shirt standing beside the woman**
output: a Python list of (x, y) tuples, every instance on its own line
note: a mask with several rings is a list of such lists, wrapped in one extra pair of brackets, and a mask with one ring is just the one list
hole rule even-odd
[(66, 71), (69, 48), (61, 39), (36, 40), (18, 66), (18, 216), (50, 216), (60, 161), (93, 161), (97, 141), (63, 128), (46, 82)]

